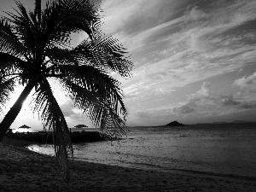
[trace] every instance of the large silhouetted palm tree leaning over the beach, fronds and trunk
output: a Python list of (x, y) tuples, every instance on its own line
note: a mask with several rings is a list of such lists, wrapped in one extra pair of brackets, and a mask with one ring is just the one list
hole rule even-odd
[[(56, 158), (69, 177), (67, 157), (73, 148), (49, 79), (58, 80), (101, 131), (110, 134), (114, 127), (114, 137), (120, 137), (125, 134), (127, 110), (119, 82), (111, 74), (130, 77), (132, 63), (119, 41), (101, 32), (99, 2), (55, 0), (41, 9), (36, 0), (33, 11), (16, 4), (15, 14), (8, 12), (0, 19), (0, 111), (17, 85), (25, 88), (0, 124), (0, 139), (33, 90), (33, 112), (53, 131)], [(81, 31), (88, 38), (71, 47), (71, 34)]]

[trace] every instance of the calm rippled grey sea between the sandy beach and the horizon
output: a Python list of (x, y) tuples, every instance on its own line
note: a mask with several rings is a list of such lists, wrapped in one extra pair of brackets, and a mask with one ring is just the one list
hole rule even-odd
[[(30, 149), (54, 154), (52, 146)], [(160, 172), (256, 178), (256, 124), (131, 127), (121, 142), (73, 145), (74, 159)]]

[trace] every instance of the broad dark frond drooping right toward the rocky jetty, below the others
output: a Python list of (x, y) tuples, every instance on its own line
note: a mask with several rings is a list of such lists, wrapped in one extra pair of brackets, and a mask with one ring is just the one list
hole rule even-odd
[(117, 80), (90, 66), (61, 66), (60, 72), (68, 74), (61, 79), (68, 95), (94, 125), (103, 132), (116, 129), (115, 137), (125, 135), (127, 110)]

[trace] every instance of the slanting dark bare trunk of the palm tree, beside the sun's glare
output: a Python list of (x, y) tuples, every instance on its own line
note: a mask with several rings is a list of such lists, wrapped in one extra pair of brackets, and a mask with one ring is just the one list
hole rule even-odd
[(29, 83), (26, 84), (25, 89), (21, 92), (19, 98), (17, 99), (13, 107), (9, 109), (9, 112), (3, 118), (0, 124), (0, 141), (3, 140), (3, 137), (5, 136), (6, 132), (9, 130), (10, 125), (12, 125), (12, 123), (15, 121), (16, 117), (20, 113), (22, 104), (26, 100), (26, 97), (32, 91), (33, 87), (34, 87), (34, 83), (32, 83), (32, 81), (29, 81)]

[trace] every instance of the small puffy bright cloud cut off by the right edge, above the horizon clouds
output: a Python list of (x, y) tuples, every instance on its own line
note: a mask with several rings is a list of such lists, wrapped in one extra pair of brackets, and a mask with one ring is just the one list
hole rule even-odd
[(256, 72), (251, 76), (236, 79), (233, 85), (238, 86), (242, 91), (256, 93)]

